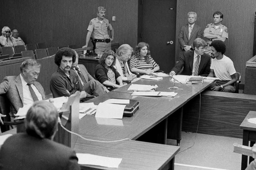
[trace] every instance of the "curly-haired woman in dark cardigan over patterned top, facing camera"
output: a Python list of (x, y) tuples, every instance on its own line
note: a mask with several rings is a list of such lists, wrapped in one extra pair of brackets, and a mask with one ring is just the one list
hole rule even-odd
[(100, 64), (95, 67), (95, 78), (103, 85), (119, 88), (123, 86), (123, 81), (121, 75), (113, 67), (116, 59), (115, 52), (112, 50), (105, 51), (99, 59)]

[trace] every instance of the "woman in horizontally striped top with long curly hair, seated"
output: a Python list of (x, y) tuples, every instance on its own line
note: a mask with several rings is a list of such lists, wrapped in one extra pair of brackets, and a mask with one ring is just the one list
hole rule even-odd
[(151, 75), (158, 71), (159, 65), (150, 56), (149, 44), (140, 42), (135, 48), (135, 55), (131, 57), (130, 69), (139, 74)]

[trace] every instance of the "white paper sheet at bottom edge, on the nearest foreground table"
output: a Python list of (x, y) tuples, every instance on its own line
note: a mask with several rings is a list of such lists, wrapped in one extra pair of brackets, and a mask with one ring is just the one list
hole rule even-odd
[(111, 158), (106, 156), (77, 153), (78, 164), (98, 165), (108, 168), (118, 168), (122, 158)]

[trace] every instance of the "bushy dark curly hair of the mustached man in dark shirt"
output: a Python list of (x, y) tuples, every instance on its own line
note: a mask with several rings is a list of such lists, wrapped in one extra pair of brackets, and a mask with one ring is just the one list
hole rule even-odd
[(72, 62), (75, 62), (75, 60), (76, 60), (75, 53), (71, 48), (67, 48), (67, 47), (61, 48), (57, 51), (57, 53), (55, 54), (55, 58), (54, 58), (54, 62), (55, 62), (55, 64), (57, 64), (58, 67), (59, 67), (59, 65), (61, 65), (62, 56), (72, 57)]

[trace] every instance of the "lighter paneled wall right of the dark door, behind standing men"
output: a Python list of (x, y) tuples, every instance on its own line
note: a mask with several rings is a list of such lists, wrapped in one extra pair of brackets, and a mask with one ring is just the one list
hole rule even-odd
[(236, 71), (241, 73), (241, 83), (245, 80), (245, 65), (253, 57), (253, 31), (256, 1), (254, 0), (177, 0), (176, 24), (176, 61), (178, 60), (178, 33), (182, 25), (187, 23), (187, 13), (197, 13), (198, 25), (205, 28), (206, 24), (213, 23), (213, 13), (221, 11), (224, 15), (222, 24), (228, 28), (229, 39), (225, 55), (234, 62)]

